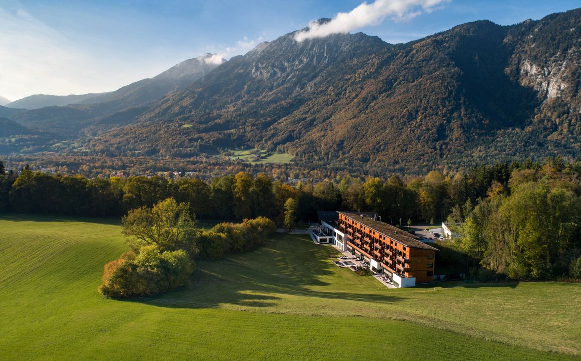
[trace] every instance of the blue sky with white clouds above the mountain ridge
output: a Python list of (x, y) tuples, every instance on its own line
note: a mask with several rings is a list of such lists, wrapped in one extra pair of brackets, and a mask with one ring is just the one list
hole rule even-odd
[(579, 0), (0, 0), (0, 96), (112, 91), (207, 52), (226, 59), (333, 19), (331, 33), (407, 42), (474, 20), (501, 25), (581, 6)]

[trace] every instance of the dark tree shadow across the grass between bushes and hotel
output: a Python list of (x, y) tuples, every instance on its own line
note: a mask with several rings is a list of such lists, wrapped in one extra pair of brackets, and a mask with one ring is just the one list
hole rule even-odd
[[(335, 257), (332, 248), (314, 245), (304, 237), (278, 236), (256, 251), (200, 261), (187, 287), (133, 302), (170, 308), (266, 308), (278, 305), (284, 295), (312, 298), (313, 303), (336, 299), (389, 303), (403, 299), (381, 293), (334, 291), (329, 280), (339, 270), (332, 263)], [(320, 289), (325, 287), (329, 290)]]

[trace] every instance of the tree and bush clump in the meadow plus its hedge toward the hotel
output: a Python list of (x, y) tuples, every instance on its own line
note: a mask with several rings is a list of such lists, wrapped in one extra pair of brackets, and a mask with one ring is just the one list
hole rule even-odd
[(107, 263), (99, 292), (110, 298), (156, 295), (187, 284), (194, 259), (220, 258), (249, 251), (274, 233), (265, 218), (217, 224), (210, 231), (196, 228), (188, 203), (168, 198), (148, 208), (133, 209), (123, 217), (123, 233), (131, 251)]

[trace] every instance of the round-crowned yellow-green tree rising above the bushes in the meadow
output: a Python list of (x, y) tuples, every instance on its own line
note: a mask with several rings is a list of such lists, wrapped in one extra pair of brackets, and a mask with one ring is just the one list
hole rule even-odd
[(192, 257), (196, 253), (195, 221), (188, 203), (178, 204), (168, 198), (152, 209), (144, 206), (130, 210), (121, 220), (123, 234), (129, 237), (134, 251), (144, 245), (156, 245), (160, 251), (185, 249)]

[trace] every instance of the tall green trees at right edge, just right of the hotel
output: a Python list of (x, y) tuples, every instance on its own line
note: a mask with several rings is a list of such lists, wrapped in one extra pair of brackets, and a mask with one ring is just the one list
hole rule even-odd
[(581, 279), (581, 164), (551, 159), (494, 182), (458, 223), (457, 248), (480, 280)]

